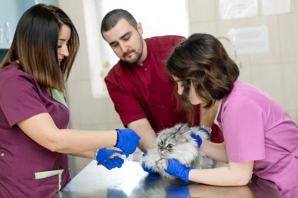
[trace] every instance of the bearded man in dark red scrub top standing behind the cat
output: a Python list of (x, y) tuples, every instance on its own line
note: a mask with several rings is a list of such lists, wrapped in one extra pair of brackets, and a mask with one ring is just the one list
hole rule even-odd
[[(105, 15), (101, 34), (120, 58), (105, 78), (109, 95), (124, 126), (141, 137), (140, 148), (145, 151), (159, 130), (177, 123), (188, 123), (185, 111), (177, 108), (173, 95), (175, 83), (166, 73), (163, 63), (185, 38), (162, 36), (143, 39), (142, 24), (123, 9)], [(212, 142), (224, 142), (220, 128), (213, 123), (218, 105), (210, 109), (203, 106), (196, 106), (194, 125), (209, 135), (212, 131)]]

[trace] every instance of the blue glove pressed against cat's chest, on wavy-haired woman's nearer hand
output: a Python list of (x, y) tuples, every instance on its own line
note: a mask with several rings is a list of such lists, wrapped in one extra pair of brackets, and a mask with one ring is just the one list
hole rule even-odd
[(188, 175), (189, 171), (193, 168), (188, 168), (183, 166), (179, 161), (176, 159), (168, 159), (168, 167), (164, 171), (170, 175), (174, 175), (179, 177), (180, 179), (188, 182)]

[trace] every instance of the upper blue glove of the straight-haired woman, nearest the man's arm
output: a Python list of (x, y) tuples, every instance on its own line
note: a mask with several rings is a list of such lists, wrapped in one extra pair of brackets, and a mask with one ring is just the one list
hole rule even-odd
[(126, 155), (133, 154), (140, 146), (140, 136), (131, 129), (117, 129), (119, 132), (118, 144), (115, 146), (123, 150)]

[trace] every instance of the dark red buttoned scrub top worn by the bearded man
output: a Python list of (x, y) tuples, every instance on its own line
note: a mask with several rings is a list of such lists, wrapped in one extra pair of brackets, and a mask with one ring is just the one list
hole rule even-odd
[[(177, 123), (188, 123), (185, 111), (176, 111), (174, 83), (166, 72), (165, 61), (172, 49), (183, 41), (181, 36), (162, 36), (145, 39), (148, 55), (142, 65), (120, 60), (105, 78), (115, 109), (126, 126), (147, 118), (158, 132)], [(200, 106), (196, 106), (195, 126), (200, 124)], [(224, 142), (217, 125), (212, 126), (211, 141)]]

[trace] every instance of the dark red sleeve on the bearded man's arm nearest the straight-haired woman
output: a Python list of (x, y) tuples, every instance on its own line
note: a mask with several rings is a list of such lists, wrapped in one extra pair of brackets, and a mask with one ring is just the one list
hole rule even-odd
[(113, 82), (105, 80), (105, 83), (124, 126), (133, 121), (146, 118), (141, 103), (133, 94), (122, 90)]

